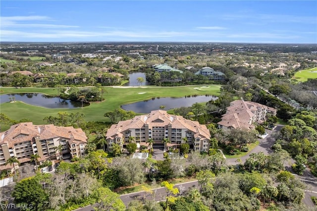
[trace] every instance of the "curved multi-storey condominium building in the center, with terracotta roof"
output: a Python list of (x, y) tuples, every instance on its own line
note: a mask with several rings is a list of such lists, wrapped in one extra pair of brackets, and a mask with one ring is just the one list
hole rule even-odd
[(206, 125), (168, 114), (165, 110), (153, 110), (147, 115), (135, 116), (111, 125), (106, 133), (106, 141), (107, 149), (111, 150), (112, 144), (123, 146), (130, 137), (134, 137), (141, 146), (148, 146), (149, 139), (153, 139), (154, 144), (161, 145), (163, 139), (167, 138), (171, 142), (167, 147), (176, 148), (187, 138), (193, 150), (207, 152), (210, 136)]

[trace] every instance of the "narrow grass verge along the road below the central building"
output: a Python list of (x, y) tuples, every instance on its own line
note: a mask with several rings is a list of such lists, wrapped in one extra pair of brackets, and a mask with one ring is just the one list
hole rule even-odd
[[(168, 181), (169, 183), (173, 184), (173, 185), (176, 185), (176, 184), (179, 184), (179, 183), (184, 183), (184, 182), (190, 182), (190, 181), (195, 181), (197, 180), (196, 178), (177, 178), (177, 179), (173, 179), (173, 180), (170, 180)], [(142, 186), (145, 186), (147, 188), (151, 188), (151, 189), (154, 189), (154, 188), (160, 188), (160, 183), (161, 181), (158, 181), (158, 183), (154, 186), (154, 185), (151, 185), (151, 182), (147, 182), (147, 183), (143, 183), (143, 184), (140, 184), (140, 185), (136, 185), (136, 186), (133, 186), (133, 187), (127, 187), (127, 188), (124, 188), (124, 189), (120, 189), (120, 190), (117, 190), (116, 193), (117, 194), (129, 194), (129, 193), (134, 193), (134, 192), (139, 192), (139, 191), (142, 191)]]

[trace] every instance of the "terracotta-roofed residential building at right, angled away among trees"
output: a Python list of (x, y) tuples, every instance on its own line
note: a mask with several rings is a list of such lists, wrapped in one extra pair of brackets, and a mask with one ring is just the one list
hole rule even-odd
[(261, 124), (266, 120), (267, 114), (275, 115), (276, 109), (251, 101), (233, 101), (218, 122), (218, 128), (254, 129), (255, 124)]

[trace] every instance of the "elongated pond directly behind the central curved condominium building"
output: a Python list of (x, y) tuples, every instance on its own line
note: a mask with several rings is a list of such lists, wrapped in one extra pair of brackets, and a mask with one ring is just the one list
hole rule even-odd
[(150, 113), (152, 110), (160, 109), (159, 106), (165, 106), (164, 110), (175, 107), (189, 107), (195, 103), (204, 103), (218, 99), (216, 96), (195, 96), (183, 98), (153, 98), (147, 101), (141, 101), (133, 104), (121, 106), (124, 110), (132, 110), (136, 113)]

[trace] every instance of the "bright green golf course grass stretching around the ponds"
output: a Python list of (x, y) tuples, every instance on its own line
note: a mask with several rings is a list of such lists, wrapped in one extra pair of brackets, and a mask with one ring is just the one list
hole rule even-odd
[[(74, 109), (50, 109), (39, 106), (31, 106), (22, 102), (16, 103), (3, 103), (0, 104), (0, 110), (2, 113), (9, 116), (14, 120), (20, 120), (22, 118), (31, 119), (34, 124), (44, 124), (45, 116), (56, 115), (59, 111), (67, 112), (81, 112), (85, 114), (86, 121), (107, 121), (104, 114), (107, 111), (112, 111), (119, 108), (121, 105), (131, 104), (139, 101), (149, 100), (156, 97), (184, 97), (188, 95), (202, 95), (202, 92), (194, 88), (200, 88), (203, 85), (198, 86), (186, 86), (186, 87), (134, 87), (134, 88), (113, 88), (105, 87), (106, 92), (103, 98), (106, 100), (100, 103), (91, 103), (90, 106), (84, 108)], [(203, 95), (219, 95), (219, 85), (208, 85), (208, 91)], [(51, 96), (57, 95), (56, 88), (0, 88), (0, 94), (8, 93), (43, 93)], [(144, 94), (139, 94), (144, 93)], [(3, 128), (1, 127), (1, 130)]]

